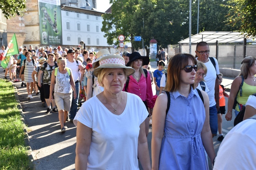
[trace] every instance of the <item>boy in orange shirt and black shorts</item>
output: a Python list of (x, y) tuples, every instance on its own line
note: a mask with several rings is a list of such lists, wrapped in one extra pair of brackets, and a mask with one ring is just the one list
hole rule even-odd
[(219, 137), (218, 137), (218, 141), (222, 141), (224, 139), (224, 136), (222, 134), (222, 115), (226, 113), (226, 109), (225, 109), (225, 98), (229, 97), (229, 95), (225, 92), (225, 88), (223, 85), (221, 85), (222, 83), (222, 73), (218, 74), (219, 77), (219, 111), (218, 111), (218, 131), (219, 131)]

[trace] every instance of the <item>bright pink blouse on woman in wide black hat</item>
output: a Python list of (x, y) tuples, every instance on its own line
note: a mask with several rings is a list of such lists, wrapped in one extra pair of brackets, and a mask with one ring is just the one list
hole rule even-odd
[[(132, 75), (130, 75), (129, 78), (130, 81), (126, 89), (127, 92), (139, 96), (142, 101), (147, 101), (149, 108), (153, 108), (154, 105), (152, 106), (150, 103), (152, 100), (155, 100), (155, 97), (153, 96), (150, 73), (147, 71), (147, 78), (145, 78), (142, 74), (139, 82), (137, 82), (136, 79), (132, 77)], [(125, 91), (125, 85), (123, 91)]]

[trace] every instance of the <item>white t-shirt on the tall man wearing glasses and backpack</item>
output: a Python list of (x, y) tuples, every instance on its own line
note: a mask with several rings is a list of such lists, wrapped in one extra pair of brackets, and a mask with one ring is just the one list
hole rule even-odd
[(218, 61), (216, 60), (216, 58), (213, 58), (213, 59), (216, 63), (216, 70), (215, 70), (215, 68), (214, 68), (210, 59), (209, 59), (208, 62), (203, 63), (207, 67), (207, 76), (205, 76), (204, 80), (208, 84), (209, 91), (208, 91), (207, 94), (208, 94), (209, 101), (210, 101), (210, 107), (212, 107), (216, 104), (215, 99), (214, 99), (215, 81), (216, 81), (216, 77), (217, 77), (216, 72), (217, 72), (217, 74), (219, 74)]

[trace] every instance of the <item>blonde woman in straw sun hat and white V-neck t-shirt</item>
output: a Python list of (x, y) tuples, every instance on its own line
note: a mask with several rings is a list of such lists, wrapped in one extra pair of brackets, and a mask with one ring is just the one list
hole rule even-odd
[[(145, 134), (148, 112), (142, 100), (122, 91), (135, 70), (119, 55), (99, 61), (95, 77), (104, 91), (87, 100), (73, 122), (76, 130), (75, 169), (151, 169)], [(137, 158), (138, 156), (138, 158)]]

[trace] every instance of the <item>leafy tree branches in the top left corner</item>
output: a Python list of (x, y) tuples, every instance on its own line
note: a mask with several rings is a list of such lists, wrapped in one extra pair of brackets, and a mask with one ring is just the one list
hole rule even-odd
[(4, 17), (9, 19), (10, 16), (22, 15), (26, 11), (26, 0), (1, 0), (0, 9), (2, 10)]

